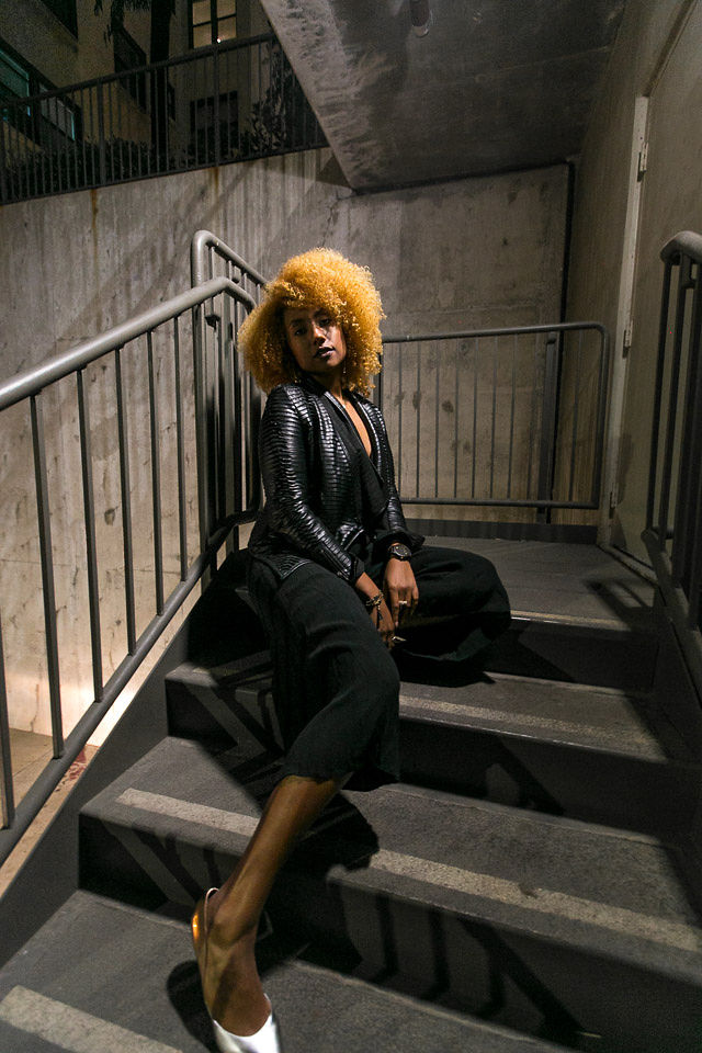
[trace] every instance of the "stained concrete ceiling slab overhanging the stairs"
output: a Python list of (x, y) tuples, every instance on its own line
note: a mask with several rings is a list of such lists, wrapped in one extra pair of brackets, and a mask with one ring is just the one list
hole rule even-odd
[(624, 0), (262, 0), (356, 190), (580, 150)]

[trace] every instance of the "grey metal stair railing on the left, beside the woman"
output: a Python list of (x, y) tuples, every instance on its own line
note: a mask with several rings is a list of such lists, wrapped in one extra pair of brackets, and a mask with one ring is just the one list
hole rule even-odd
[[(204, 238), (203, 251), (206, 242)], [(260, 275), (239, 261), (235, 276), (207, 280), (0, 387), (0, 423), (18, 414), (29, 420), (23, 430), (14, 416), (9, 429), (20, 484), (25, 485), (24, 435), (24, 445), (31, 444), (27, 460), (34, 465), (36, 528), (16, 523), (16, 529), (23, 535), (34, 533), (41, 557), (53, 739), (53, 759), (15, 808), (8, 710), (12, 678), (2, 660), (0, 633), (4, 827), (0, 860), (7, 858), (217, 552), (231, 544), (238, 524), (250, 521), (259, 507), (251, 437), (257, 433), (260, 397), (239, 371), (235, 346), (238, 326), (256, 304), (261, 284)], [(183, 354), (183, 347), (193, 353)], [(71, 440), (77, 440), (73, 456), (80, 468), (76, 472), (80, 498), (71, 489)], [(12, 495), (12, 479), (9, 483), (7, 492)], [(117, 507), (109, 507), (115, 494)], [(57, 537), (55, 524), (72, 528), (73, 534), (77, 519), (82, 524), (84, 554), (71, 575), (73, 580), (81, 574), (86, 579), (92, 702), (66, 735), (59, 645), (59, 611), (65, 604), (57, 596), (55, 569), (57, 552), (64, 552), (63, 544), (70, 552), (72, 536), (70, 543)], [(118, 528), (118, 520), (121, 544), (113, 534), (113, 564), (105, 571), (103, 563), (110, 561), (102, 561), (101, 554), (107, 552), (110, 540), (104, 524)], [(193, 539), (195, 526), (199, 537)], [(139, 580), (145, 574), (137, 547), (143, 562), (150, 564), (150, 602), (136, 581), (137, 574)], [(122, 582), (122, 604), (107, 610), (112, 619), (106, 624), (103, 612), (115, 599), (115, 578)], [(176, 580), (168, 592), (167, 578)], [(3, 607), (8, 602), (5, 589)], [(9, 621), (14, 623), (15, 615), (16, 611)], [(76, 603), (69, 616), (71, 622), (79, 616)], [(121, 624), (125, 631), (120, 658), (114, 635)], [(106, 634), (113, 667), (109, 675)], [(33, 665), (39, 664), (34, 655)]]

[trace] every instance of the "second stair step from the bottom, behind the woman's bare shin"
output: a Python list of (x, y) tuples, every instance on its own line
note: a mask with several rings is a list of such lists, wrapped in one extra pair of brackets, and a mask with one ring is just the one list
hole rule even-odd
[[(274, 768), (165, 740), (81, 815), (87, 887), (151, 906), (218, 884)], [(257, 804), (257, 801), (259, 804)], [(702, 927), (650, 837), (407, 785), (347, 793), (294, 853), (274, 930), (349, 941), (371, 975), (608, 1053), (699, 1049)], [(671, 1014), (669, 1007), (675, 1006)]]

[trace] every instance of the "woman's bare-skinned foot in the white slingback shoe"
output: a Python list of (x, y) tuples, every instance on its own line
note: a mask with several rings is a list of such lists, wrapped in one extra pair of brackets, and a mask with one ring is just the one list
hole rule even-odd
[(271, 1017), (271, 1005), (256, 967), (256, 928), (241, 932), (216, 888), (200, 901), (191, 926), (203, 998), (212, 1019), (234, 1037), (257, 1035)]

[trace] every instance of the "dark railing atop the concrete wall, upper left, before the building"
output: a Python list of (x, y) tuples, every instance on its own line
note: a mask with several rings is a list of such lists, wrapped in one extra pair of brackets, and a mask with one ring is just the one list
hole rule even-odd
[(0, 204), (326, 146), (272, 34), (0, 99)]

